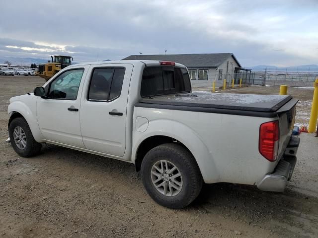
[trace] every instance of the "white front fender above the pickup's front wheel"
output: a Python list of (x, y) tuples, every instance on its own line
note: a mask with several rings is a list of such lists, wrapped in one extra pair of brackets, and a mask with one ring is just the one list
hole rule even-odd
[[(31, 99), (32, 96), (29, 96), (29, 97), (30, 97), (29, 99)], [(26, 99), (26, 102), (24, 101), (25, 100), (23, 101), (18, 100), (18, 101), (11, 102), (8, 106), (8, 114), (10, 115), (10, 117), (12, 117), (14, 113), (21, 114), (22, 117), (28, 123), (34, 139), (39, 143), (45, 142), (45, 139), (42, 136), (42, 133), (40, 131), (38, 121), (37, 121), (36, 100), (35, 102), (32, 102), (31, 104), (28, 103), (29, 101), (28, 99)], [(32, 106), (28, 106), (28, 105), (32, 105)]]

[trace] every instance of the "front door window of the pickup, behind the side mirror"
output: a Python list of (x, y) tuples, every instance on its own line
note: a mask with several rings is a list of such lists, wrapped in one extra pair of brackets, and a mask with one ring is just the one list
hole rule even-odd
[(48, 98), (76, 100), (79, 91), (79, 83), (84, 69), (72, 69), (59, 75), (50, 84)]

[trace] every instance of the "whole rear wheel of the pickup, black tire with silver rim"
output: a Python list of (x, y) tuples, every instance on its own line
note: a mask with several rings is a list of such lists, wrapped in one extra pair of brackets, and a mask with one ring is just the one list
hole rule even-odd
[(174, 143), (159, 145), (145, 155), (141, 178), (157, 203), (173, 209), (189, 205), (202, 188), (202, 177), (193, 156)]

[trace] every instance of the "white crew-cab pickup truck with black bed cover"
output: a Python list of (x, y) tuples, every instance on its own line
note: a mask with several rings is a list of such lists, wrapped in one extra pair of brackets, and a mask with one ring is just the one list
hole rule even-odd
[(156, 202), (182, 208), (203, 182), (283, 191), (297, 102), (192, 92), (187, 68), (170, 61), (82, 63), (10, 99), (9, 139), (23, 157), (50, 143), (133, 163)]

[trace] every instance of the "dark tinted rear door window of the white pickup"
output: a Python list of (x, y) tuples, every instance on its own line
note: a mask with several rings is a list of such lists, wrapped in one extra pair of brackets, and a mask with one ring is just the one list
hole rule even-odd
[(125, 68), (95, 68), (93, 70), (87, 99), (110, 101), (121, 94)]

